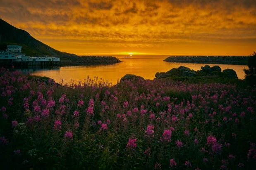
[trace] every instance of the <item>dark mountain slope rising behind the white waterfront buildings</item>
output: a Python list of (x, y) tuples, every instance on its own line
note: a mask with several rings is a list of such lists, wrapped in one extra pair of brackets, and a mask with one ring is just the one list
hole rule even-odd
[(60, 52), (36, 40), (28, 32), (16, 28), (0, 19), (0, 50), (7, 45), (20, 45), (27, 56), (77, 57), (76, 54)]

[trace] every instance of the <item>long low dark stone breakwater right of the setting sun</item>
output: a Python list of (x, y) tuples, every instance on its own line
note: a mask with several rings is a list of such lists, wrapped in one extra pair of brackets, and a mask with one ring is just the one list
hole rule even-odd
[(202, 64), (239, 64), (247, 65), (247, 56), (170, 56), (164, 61)]

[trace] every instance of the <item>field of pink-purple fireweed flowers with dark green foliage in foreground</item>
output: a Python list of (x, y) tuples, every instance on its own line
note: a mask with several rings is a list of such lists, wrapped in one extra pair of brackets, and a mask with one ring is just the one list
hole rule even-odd
[(255, 169), (256, 86), (0, 70), (0, 169)]

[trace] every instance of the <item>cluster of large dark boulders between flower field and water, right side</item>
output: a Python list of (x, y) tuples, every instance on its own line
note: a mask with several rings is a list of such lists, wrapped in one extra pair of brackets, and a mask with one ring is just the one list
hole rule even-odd
[(167, 72), (157, 72), (155, 77), (159, 78), (167, 78), (167, 77), (223, 77), (223, 78), (238, 78), (237, 73), (233, 69), (225, 69), (221, 71), (220, 66), (210, 67), (208, 65), (202, 66), (201, 70), (194, 71), (188, 67), (180, 66), (179, 68), (172, 68)]

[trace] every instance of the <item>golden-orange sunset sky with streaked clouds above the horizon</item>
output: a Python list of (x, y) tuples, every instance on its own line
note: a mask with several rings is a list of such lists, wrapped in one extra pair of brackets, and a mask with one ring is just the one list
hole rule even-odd
[(256, 0), (0, 0), (0, 18), (77, 55), (256, 51)]

